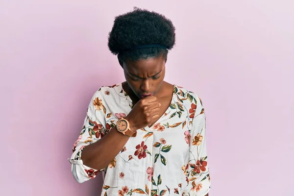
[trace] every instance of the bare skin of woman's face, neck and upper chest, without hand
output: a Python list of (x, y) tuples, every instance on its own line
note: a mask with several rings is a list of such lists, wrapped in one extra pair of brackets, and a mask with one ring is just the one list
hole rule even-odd
[[(161, 117), (172, 100), (173, 85), (165, 82), (165, 64), (167, 57), (160, 55), (158, 58), (149, 58), (146, 60), (123, 62), (119, 58), (119, 62), (123, 67), (124, 77), (123, 89), (136, 104), (141, 95), (152, 94), (150, 97), (156, 97), (161, 107), (159, 117)], [(157, 119), (150, 123), (151, 127)]]

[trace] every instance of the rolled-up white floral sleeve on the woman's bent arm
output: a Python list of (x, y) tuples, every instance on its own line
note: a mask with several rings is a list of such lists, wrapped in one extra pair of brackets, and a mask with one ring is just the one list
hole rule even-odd
[(72, 165), (73, 177), (79, 183), (95, 178), (99, 172), (103, 171), (84, 165), (81, 154), (84, 147), (97, 142), (106, 134), (104, 111), (105, 106), (103, 105), (99, 90), (90, 101), (81, 133), (73, 144), (73, 154), (68, 159)]

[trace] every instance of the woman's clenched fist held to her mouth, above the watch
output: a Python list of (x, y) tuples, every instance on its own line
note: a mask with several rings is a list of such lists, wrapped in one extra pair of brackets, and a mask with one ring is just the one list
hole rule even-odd
[(130, 123), (130, 129), (136, 131), (144, 128), (159, 118), (160, 103), (156, 97), (148, 96), (140, 99), (125, 119)]

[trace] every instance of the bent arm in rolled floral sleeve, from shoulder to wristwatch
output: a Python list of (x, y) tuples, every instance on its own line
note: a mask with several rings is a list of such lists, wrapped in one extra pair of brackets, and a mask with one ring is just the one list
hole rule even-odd
[(114, 124), (105, 122), (103, 104), (101, 92), (97, 91), (88, 106), (82, 131), (69, 159), (73, 176), (79, 183), (103, 171), (129, 139), (129, 136), (119, 133)]

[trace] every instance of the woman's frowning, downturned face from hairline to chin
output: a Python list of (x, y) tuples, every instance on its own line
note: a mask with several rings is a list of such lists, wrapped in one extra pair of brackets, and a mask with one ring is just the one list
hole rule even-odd
[(138, 98), (155, 96), (165, 76), (167, 58), (163, 55), (146, 60), (120, 62), (123, 64), (125, 79)]

